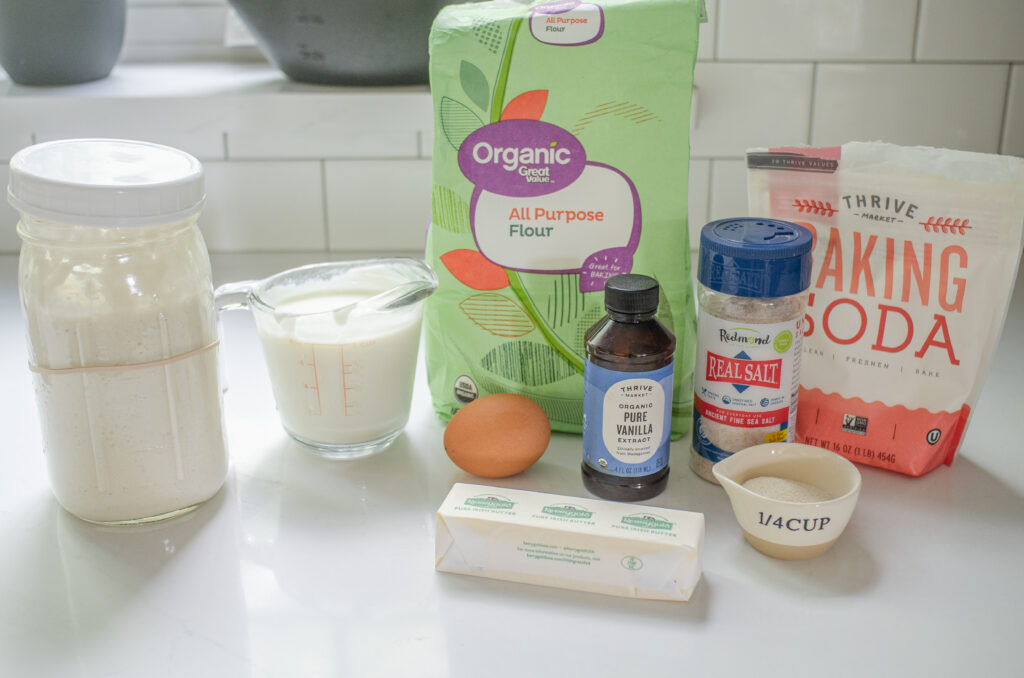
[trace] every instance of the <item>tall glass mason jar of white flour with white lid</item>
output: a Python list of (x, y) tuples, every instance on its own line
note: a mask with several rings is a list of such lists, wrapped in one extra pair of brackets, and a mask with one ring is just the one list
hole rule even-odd
[(151, 143), (10, 161), (18, 288), (50, 482), (94, 522), (180, 514), (227, 474), (203, 168)]

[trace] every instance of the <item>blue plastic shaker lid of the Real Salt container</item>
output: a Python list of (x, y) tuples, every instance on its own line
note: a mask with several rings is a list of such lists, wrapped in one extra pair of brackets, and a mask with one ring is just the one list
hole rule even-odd
[(700, 230), (697, 280), (739, 297), (786, 297), (811, 286), (811, 231), (779, 219), (719, 219)]

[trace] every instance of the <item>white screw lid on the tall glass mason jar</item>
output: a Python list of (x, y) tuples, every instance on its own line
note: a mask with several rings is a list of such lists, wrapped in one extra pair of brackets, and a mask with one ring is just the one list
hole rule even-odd
[(145, 141), (62, 139), (10, 160), (7, 200), (30, 216), (84, 226), (151, 226), (203, 209), (203, 165)]

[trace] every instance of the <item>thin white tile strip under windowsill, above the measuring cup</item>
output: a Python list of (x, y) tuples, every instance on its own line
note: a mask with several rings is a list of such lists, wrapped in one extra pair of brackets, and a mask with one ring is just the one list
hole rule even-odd
[(244, 158), (416, 158), (416, 130), (348, 133), (228, 132), (227, 155)]

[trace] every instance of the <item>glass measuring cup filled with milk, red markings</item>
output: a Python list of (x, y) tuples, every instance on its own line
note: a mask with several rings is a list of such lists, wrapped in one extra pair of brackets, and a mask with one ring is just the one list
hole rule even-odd
[(387, 448), (409, 420), (423, 301), (422, 261), (317, 263), (218, 288), (218, 310), (256, 319), (285, 430), (325, 457)]

